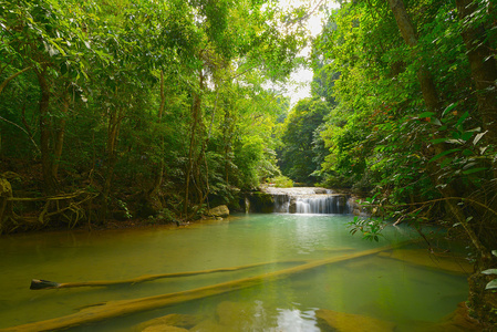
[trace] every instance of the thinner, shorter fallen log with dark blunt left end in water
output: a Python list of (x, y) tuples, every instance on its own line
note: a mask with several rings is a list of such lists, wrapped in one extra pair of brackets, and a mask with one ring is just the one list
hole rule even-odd
[(238, 271), (238, 270), (257, 268), (257, 267), (269, 266), (269, 264), (302, 263), (302, 262), (308, 262), (308, 261), (309, 261), (308, 259), (307, 260), (300, 259), (300, 260), (269, 261), (269, 262), (260, 262), (260, 263), (246, 264), (246, 266), (239, 266), (239, 267), (219, 268), (219, 269), (210, 269), (210, 270), (201, 270), (201, 271), (147, 274), (147, 276), (141, 276), (137, 278), (126, 279), (126, 280), (101, 280), (101, 281), (81, 281), (81, 282), (61, 282), (61, 283), (59, 283), (55, 281), (49, 281), (49, 280), (43, 280), (43, 279), (32, 279), (30, 289), (31, 290), (42, 290), (42, 289), (76, 288), (76, 287), (106, 287), (106, 286), (116, 286), (116, 284), (126, 284), (126, 283), (135, 284), (135, 283), (153, 281), (153, 280), (157, 280), (157, 279), (165, 279), (165, 278), (190, 277), (190, 276), (216, 273), (216, 272), (230, 272), (230, 271)]

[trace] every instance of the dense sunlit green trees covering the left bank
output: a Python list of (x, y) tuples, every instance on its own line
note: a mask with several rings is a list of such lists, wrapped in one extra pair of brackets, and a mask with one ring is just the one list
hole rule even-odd
[(288, 100), (267, 82), (306, 43), (287, 19), (270, 1), (0, 1), (2, 167), (28, 195), (49, 175), (58, 193), (99, 191), (100, 216), (135, 215), (137, 193), (183, 218), (235, 201), (280, 174)]

